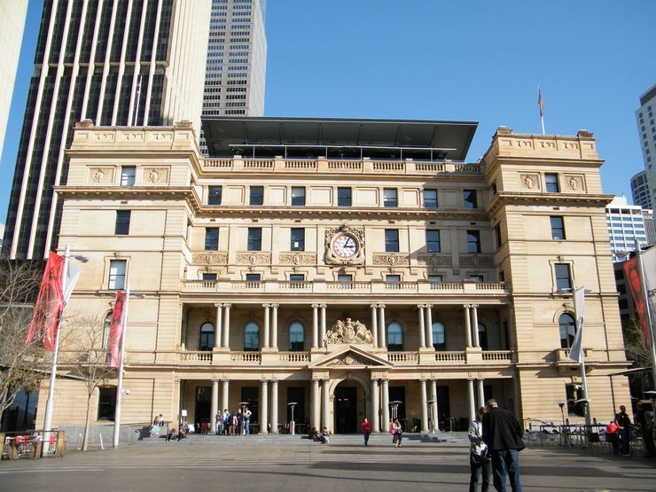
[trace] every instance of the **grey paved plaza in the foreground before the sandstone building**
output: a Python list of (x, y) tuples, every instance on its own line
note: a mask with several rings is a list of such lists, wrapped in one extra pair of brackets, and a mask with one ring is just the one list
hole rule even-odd
[[(207, 436), (209, 437), (209, 436)], [(324, 490), (461, 491), (469, 480), (465, 443), (387, 436), (364, 447), (355, 436), (323, 445), (292, 438), (262, 441), (214, 436), (163, 440), (118, 449), (70, 451), (62, 458), (3, 461), (0, 490)], [(652, 492), (656, 462), (586, 455), (559, 448), (521, 452), (524, 489)]]

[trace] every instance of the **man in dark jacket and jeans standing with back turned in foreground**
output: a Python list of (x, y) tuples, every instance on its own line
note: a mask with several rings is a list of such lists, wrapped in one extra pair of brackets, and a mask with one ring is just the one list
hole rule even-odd
[(483, 441), (492, 456), (492, 474), (496, 490), (505, 492), (505, 476), (513, 492), (521, 492), (519, 481), (519, 451), (524, 449), (521, 436), (524, 429), (510, 410), (500, 409), (496, 400), (488, 400), (483, 416)]

